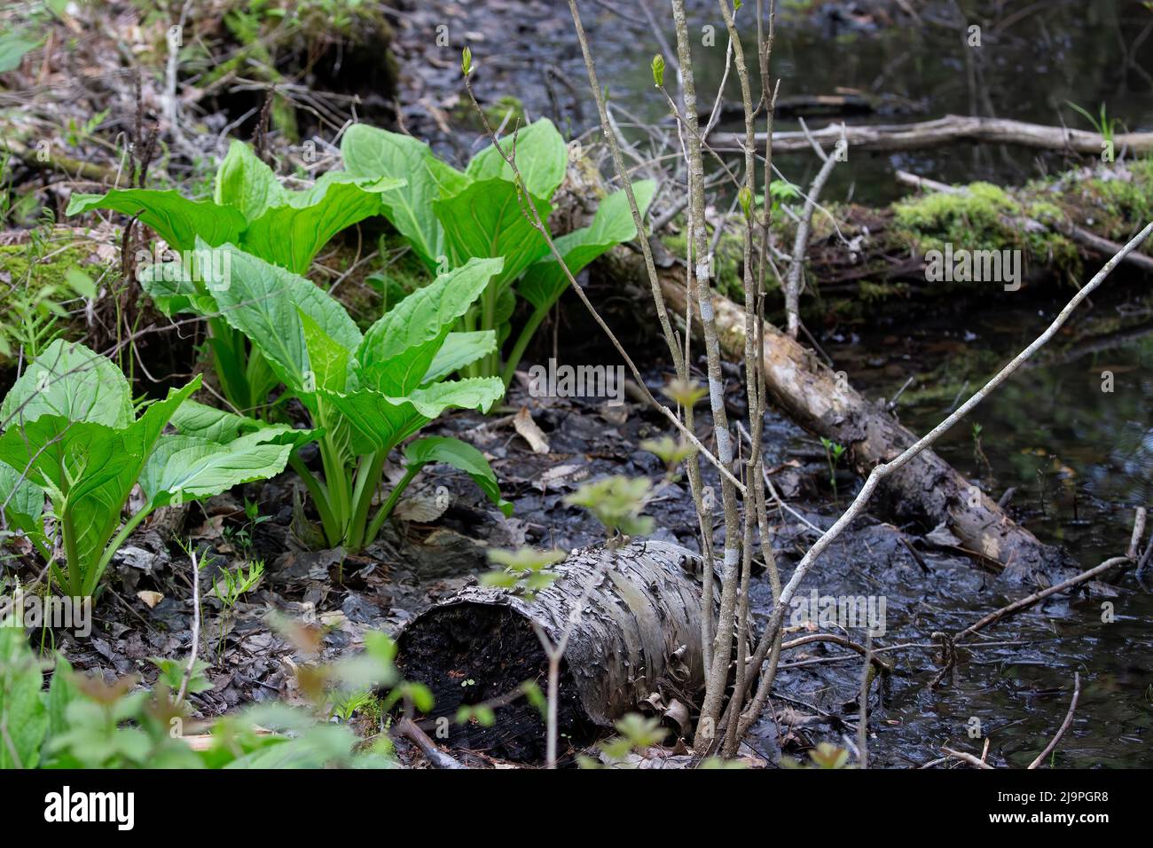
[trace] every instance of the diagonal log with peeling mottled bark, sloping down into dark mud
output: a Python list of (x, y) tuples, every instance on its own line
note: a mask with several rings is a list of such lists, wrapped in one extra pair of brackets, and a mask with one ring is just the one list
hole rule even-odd
[[(613, 273), (638, 279), (643, 269), (627, 248), (609, 257)], [(660, 269), (661, 292), (669, 308), (685, 313), (685, 276), (679, 267)], [(745, 352), (745, 312), (723, 295), (714, 295), (721, 346), (739, 359)], [(694, 316), (695, 317), (695, 316)], [(865, 399), (847, 380), (821, 362), (796, 339), (764, 324), (764, 383), (777, 406), (811, 433), (850, 449), (860, 474), (888, 461), (917, 441), (892, 415)], [(1065, 564), (1057, 548), (1013, 521), (995, 501), (930, 450), (912, 459), (882, 483), (890, 511), (899, 518), (944, 523), (966, 550), (1005, 566), (1013, 573)]]

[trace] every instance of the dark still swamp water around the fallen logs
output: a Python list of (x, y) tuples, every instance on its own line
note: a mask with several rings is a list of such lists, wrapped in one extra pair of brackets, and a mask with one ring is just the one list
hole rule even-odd
[[(585, 73), (564, 7), (483, 6), (458, 7), (462, 22), (482, 36), (473, 45), (474, 55), (482, 57), (477, 88), (492, 100), (514, 95), (529, 118), (548, 115), (573, 135), (587, 130), (595, 108), (581, 93)], [(688, 6), (696, 31), (709, 24), (717, 28), (718, 46), (698, 51), (699, 90), (711, 93), (723, 70), (723, 22), (713, 20), (711, 2)], [(782, 2), (774, 55), (782, 95), (850, 90), (874, 97), (876, 111), (846, 117), (851, 122), (958, 113), (1087, 128), (1067, 105), (1071, 102), (1094, 114), (1105, 103), (1108, 114), (1128, 129), (1153, 128), (1148, 74), (1153, 15), (1140, 3), (921, 6), (926, 7), (921, 25), (895, 25), (883, 14), (862, 12), (853, 3)], [(631, 118), (664, 119), (648, 72), (653, 53), (662, 47), (640, 7), (583, 7), (602, 83), (619, 106), (621, 126), (627, 127)], [(663, 9), (661, 3), (651, 8), (655, 14)], [(964, 27), (974, 20), (985, 23), (980, 51), (964, 44)], [(518, 32), (515, 38), (507, 36), (510, 29)], [(664, 37), (672, 39), (671, 27), (664, 28)], [(562, 76), (572, 85), (560, 84)], [(416, 111), (412, 120), (420, 120)], [(809, 117), (808, 123), (817, 127), (826, 120)], [(778, 128), (798, 127), (794, 120), (778, 120)], [(447, 151), (459, 144), (444, 141), (442, 147)], [(457, 152), (467, 156), (467, 150)], [(815, 170), (811, 156), (778, 157), (776, 164), (794, 182), (807, 183)], [(898, 168), (945, 182), (1015, 185), (1067, 164), (1060, 155), (992, 145), (858, 155), (852, 167), (834, 172), (824, 197), (889, 202), (903, 194), (892, 177)], [(945, 458), (995, 496), (1017, 487), (1010, 504), (1015, 517), (1042, 540), (1065, 546), (1084, 568), (1123, 553), (1133, 508), (1153, 503), (1153, 301), (1136, 294), (1139, 280), (1118, 285), (1120, 293), (1097, 299), (1076, 317), (1060, 347), (1019, 373), (941, 444)], [(1043, 329), (1060, 305), (1054, 299), (998, 302), (982, 309), (970, 302), (960, 312), (949, 305), (943, 307), (949, 314), (936, 317), (919, 315), (912, 322), (868, 330), (834, 329), (821, 343), (871, 397), (891, 397), (915, 376), (898, 410), (914, 430), (925, 431), (943, 417), (966, 381), (972, 391), (992, 376), (998, 363)], [(1113, 392), (1101, 390), (1105, 370), (1114, 374)], [(972, 423), (982, 428), (985, 459), (974, 451)], [(801, 456), (811, 466), (823, 461), (820, 445), (790, 423), (770, 418), (769, 428), (777, 440), (778, 460)], [(842, 486), (842, 498), (851, 496), (846, 486), (851, 481)], [(834, 504), (812, 510), (794, 505), (820, 526), (837, 515)], [(672, 515), (666, 518), (676, 520)], [(562, 528), (560, 535), (563, 543), (580, 541), (574, 527)], [(884, 524), (854, 530), (826, 554), (806, 586), (822, 594), (884, 595), (887, 632), (877, 644), (911, 645), (887, 654), (903, 674), (891, 678), (882, 699), (874, 695), (869, 726), (876, 734), (871, 751), (875, 765), (921, 765), (939, 757), (943, 744), (979, 753), (984, 740), (969, 734), (974, 719), (980, 735), (992, 741), (990, 761), (1027, 765), (1060, 726), (1075, 671), (1082, 675), (1080, 705), (1054, 763), (1153, 765), (1153, 595), (1147, 581), (1130, 570), (1110, 578), (1115, 586), (1050, 598), (984, 631), (974, 647), (960, 652), (955, 680), (929, 689), (940, 667), (932, 632), (962, 630), (1034, 587), (1003, 585), (972, 562), (944, 551), (921, 550), (930, 571), (926, 575), (898, 535)], [(799, 523), (785, 517), (776, 547), (786, 573), (811, 539)], [(754, 601), (763, 614), (769, 607), (766, 580), (756, 593)], [(1102, 621), (1105, 602), (1113, 605), (1111, 623)], [(857, 706), (851, 701), (860, 663), (827, 661), (837, 651), (816, 648), (789, 658), (777, 690), (791, 701), (775, 706), (816, 719), (781, 727), (781, 733), (801, 742), (854, 736)], [(762, 721), (754, 737), (762, 750), (776, 753), (774, 722)]]

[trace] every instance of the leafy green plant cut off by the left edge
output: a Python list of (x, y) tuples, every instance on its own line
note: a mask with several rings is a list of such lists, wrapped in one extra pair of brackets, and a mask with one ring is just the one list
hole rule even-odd
[[(278, 474), (312, 436), (239, 415), (231, 429), (181, 429), (199, 406), (189, 400), (199, 384), (197, 376), (169, 390), (137, 417), (111, 360), (58, 339), (0, 403), (5, 519), (31, 540), (66, 594), (91, 596), (113, 554), (153, 510)], [(178, 433), (165, 433), (169, 423)], [(122, 519), (137, 485), (144, 504)], [(58, 545), (63, 562), (53, 556)]]

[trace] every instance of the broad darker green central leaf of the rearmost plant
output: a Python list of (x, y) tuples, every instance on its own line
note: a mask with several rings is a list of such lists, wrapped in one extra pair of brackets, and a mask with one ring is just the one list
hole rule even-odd
[[(525, 198), (527, 202), (527, 197)], [(517, 279), (544, 255), (548, 243), (521, 211), (517, 187), (499, 178), (469, 183), (464, 192), (435, 201), (432, 208), (445, 227), (445, 243), (453, 265), (473, 257), (502, 256), (504, 268), (498, 287)], [(548, 222), (552, 207), (534, 200), (541, 220)]]

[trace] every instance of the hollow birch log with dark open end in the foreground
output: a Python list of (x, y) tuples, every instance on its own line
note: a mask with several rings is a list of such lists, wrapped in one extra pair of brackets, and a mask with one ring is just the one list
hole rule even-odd
[[(435, 699), (420, 726), (435, 728), (446, 718), (447, 726), (440, 721), (439, 727), (446, 727), (447, 738), (434, 734), (437, 741), (500, 759), (542, 761), (541, 713), (508, 695), (525, 682), (544, 689), (548, 658), (534, 624), (556, 644), (580, 605), (562, 667), (562, 737), (590, 742), (642, 705), (687, 729), (689, 701), (704, 682), (701, 568), (679, 546), (636, 541), (616, 553), (574, 550), (553, 566), (553, 584), (532, 600), (503, 588), (462, 588), (397, 638), (405, 680), (423, 683)], [(476, 705), (491, 706), (496, 722), (453, 723), (461, 707)]]

